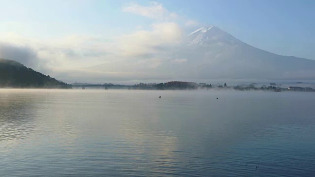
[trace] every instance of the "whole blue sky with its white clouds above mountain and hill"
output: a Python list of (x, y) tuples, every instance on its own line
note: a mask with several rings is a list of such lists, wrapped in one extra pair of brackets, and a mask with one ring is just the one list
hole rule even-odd
[[(0, 47), (19, 50), (30, 59), (17, 60), (46, 73), (134, 59), (143, 51), (154, 54), (148, 45), (174, 43), (212, 25), (268, 52), (315, 59), (313, 0), (0, 0), (0, 4)], [(15, 59), (14, 52), (5, 52), (0, 50), (0, 57)], [(152, 58), (140, 63), (151, 67), (158, 62)]]

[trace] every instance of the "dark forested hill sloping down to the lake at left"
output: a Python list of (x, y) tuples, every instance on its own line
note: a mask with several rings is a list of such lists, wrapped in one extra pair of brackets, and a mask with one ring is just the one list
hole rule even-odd
[(0, 59), (0, 88), (71, 88), (66, 83), (27, 68), (23, 64)]

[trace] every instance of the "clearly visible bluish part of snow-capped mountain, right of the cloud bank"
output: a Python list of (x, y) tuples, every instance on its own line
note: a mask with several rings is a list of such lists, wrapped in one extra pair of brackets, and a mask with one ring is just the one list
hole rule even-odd
[(315, 79), (315, 60), (257, 49), (214, 26), (191, 32), (175, 55), (187, 59), (182, 73), (200, 79)]

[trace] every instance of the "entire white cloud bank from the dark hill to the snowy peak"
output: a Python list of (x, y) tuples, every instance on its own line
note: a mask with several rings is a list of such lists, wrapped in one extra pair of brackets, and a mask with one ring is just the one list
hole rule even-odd
[[(152, 19), (151, 28), (141, 24), (135, 27), (134, 32), (110, 39), (102, 35), (72, 34), (41, 40), (13, 32), (0, 32), (0, 58), (20, 61), (66, 82), (75, 78), (81, 82), (80, 78), (84, 77), (86, 81), (96, 81), (94, 76), (97, 80), (105, 76), (117, 80), (168, 78), (168, 72), (161, 74), (159, 71), (167, 63), (187, 62), (183, 59), (185, 56), (172, 57), (174, 44), (183, 39), (182, 27), (186, 18), (168, 11), (158, 2), (150, 2), (147, 6), (129, 3), (123, 10)], [(196, 22), (190, 20), (187, 24)], [(93, 69), (92, 66), (100, 67)], [(150, 75), (147, 76), (148, 73)]]

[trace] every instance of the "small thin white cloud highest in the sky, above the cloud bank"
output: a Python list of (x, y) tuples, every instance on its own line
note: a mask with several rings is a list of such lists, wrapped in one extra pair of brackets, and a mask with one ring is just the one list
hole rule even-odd
[(169, 12), (163, 7), (163, 4), (158, 2), (150, 2), (148, 6), (143, 6), (138, 3), (128, 3), (123, 8), (123, 11), (138, 14), (157, 20), (176, 20), (178, 15), (174, 12)]

